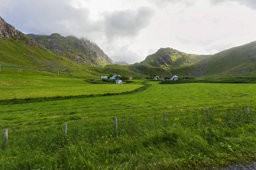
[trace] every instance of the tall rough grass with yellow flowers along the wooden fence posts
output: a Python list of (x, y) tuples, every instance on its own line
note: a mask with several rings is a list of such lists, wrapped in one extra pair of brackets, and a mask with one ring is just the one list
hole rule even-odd
[[(213, 169), (255, 159), (255, 108), (86, 119), (48, 128), (10, 130), (2, 169)], [(2, 130), (1, 130), (2, 131)]]

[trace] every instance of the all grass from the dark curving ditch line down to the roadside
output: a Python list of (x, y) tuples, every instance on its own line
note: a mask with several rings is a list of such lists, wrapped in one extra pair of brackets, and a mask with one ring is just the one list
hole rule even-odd
[(136, 94), (1, 105), (9, 140), (0, 167), (218, 169), (255, 160), (255, 84), (149, 83)]

